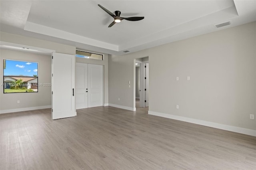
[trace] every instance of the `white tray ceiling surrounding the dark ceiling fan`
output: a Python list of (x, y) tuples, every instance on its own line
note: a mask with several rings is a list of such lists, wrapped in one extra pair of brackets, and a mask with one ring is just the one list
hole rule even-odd
[[(108, 28), (113, 18), (98, 4), (145, 19)], [(3, 32), (118, 55), (253, 21), (256, 0), (0, 0)]]

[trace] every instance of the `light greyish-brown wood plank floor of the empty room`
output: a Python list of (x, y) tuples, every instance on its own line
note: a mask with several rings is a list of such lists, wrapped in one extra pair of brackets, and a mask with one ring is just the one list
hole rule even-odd
[(0, 169), (256, 169), (256, 137), (148, 115), (144, 108), (0, 115)]

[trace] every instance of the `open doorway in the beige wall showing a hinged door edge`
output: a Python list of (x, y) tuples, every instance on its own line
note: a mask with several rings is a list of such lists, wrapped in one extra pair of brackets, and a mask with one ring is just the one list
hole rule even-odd
[(137, 108), (149, 106), (149, 62), (148, 57), (135, 59), (135, 98)]

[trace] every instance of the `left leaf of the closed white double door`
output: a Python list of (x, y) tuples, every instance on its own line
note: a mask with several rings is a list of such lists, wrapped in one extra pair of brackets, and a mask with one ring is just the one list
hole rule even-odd
[(76, 109), (88, 107), (88, 64), (76, 63)]

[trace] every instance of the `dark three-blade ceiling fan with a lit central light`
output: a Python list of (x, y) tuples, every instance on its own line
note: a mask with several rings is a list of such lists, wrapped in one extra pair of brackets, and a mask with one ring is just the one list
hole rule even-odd
[(144, 19), (144, 16), (134, 16), (134, 17), (128, 17), (128, 18), (120, 17), (120, 14), (121, 14), (120, 11), (115, 11), (116, 15), (114, 15), (112, 12), (110, 12), (109, 10), (107, 10), (106, 8), (101, 6), (100, 4), (98, 4), (98, 6), (100, 8), (102, 8), (102, 10), (106, 11), (106, 13), (108, 13), (110, 16), (112, 16), (114, 18), (114, 21), (108, 27), (112, 27), (114, 24), (116, 24), (117, 22), (121, 22), (122, 20), (139, 21), (139, 20), (143, 20)]

